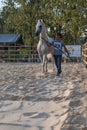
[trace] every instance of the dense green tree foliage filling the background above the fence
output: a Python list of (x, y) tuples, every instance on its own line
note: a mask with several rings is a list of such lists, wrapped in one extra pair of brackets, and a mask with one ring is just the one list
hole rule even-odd
[(38, 19), (44, 19), (49, 36), (64, 35), (66, 44), (78, 44), (87, 29), (86, 0), (5, 0), (0, 14), (1, 33), (21, 33), (25, 44), (36, 44)]

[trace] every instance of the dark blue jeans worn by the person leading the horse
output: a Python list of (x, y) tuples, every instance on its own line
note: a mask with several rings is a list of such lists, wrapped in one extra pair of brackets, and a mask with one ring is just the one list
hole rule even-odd
[(58, 73), (61, 72), (62, 55), (54, 55), (55, 65)]

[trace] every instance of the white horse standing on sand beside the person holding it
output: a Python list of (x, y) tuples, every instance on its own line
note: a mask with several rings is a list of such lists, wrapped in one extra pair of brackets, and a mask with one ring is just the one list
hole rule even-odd
[(53, 70), (54, 70), (54, 58), (53, 58), (53, 51), (54, 48), (53, 46), (48, 46), (46, 43), (46, 40), (49, 41), (51, 40), (51, 38), (48, 37), (47, 35), (47, 30), (46, 30), (46, 26), (45, 23), (43, 22), (43, 20), (38, 20), (37, 24), (36, 24), (36, 36), (40, 35), (40, 39), (39, 39), (39, 43), (37, 45), (37, 51), (39, 54), (39, 58), (42, 62), (43, 65), (43, 72), (47, 72), (47, 63), (48, 63), (48, 54), (51, 54), (51, 59), (53, 62)]

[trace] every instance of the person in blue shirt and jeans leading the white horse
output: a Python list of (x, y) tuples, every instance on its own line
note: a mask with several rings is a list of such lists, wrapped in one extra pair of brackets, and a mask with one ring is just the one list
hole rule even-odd
[(55, 60), (55, 65), (57, 68), (57, 76), (60, 75), (62, 72), (61, 70), (61, 63), (62, 63), (62, 47), (64, 47), (65, 52), (67, 52), (67, 55), (69, 56), (68, 49), (64, 45), (64, 41), (62, 40), (62, 34), (57, 33), (55, 40), (52, 42), (46, 42), (48, 46), (54, 46), (54, 60)]

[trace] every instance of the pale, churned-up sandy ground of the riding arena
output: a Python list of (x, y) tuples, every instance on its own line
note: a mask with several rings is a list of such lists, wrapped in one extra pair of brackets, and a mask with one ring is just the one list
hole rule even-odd
[(87, 69), (63, 63), (0, 63), (0, 130), (87, 130)]

